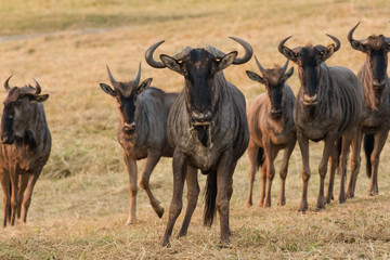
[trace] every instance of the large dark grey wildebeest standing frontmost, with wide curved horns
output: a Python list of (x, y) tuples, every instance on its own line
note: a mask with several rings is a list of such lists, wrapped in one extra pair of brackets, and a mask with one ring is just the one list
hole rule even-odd
[[(243, 64), (252, 55), (251, 47), (238, 38), (233, 40), (245, 49), (227, 54), (213, 47), (185, 48), (173, 57), (161, 54), (157, 62), (153, 53), (164, 41), (146, 52), (147, 63), (156, 68), (168, 67), (185, 79), (185, 87), (168, 117), (168, 139), (173, 152), (173, 196), (162, 245), (169, 245), (173, 225), (182, 210), (185, 167), (207, 174), (205, 225), (211, 225), (216, 208), (220, 217), (221, 240), (230, 242), (229, 205), (233, 193), (233, 172), (249, 141), (246, 105), (243, 93), (224, 78), (222, 70), (231, 64)], [(191, 174), (191, 177), (188, 176)], [(188, 207), (179, 236), (186, 234), (195, 209), (199, 187), (196, 173), (187, 173)], [(188, 180), (190, 178), (190, 180)]]

